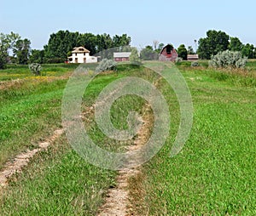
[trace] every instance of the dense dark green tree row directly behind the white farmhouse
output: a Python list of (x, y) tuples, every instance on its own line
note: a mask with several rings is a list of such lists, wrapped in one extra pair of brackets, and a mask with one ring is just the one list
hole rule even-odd
[[(32, 51), (34, 62), (41, 60), (45, 63), (58, 63), (67, 60), (74, 47), (83, 46), (90, 50), (90, 54), (97, 54), (108, 48), (130, 46), (131, 37), (126, 34), (110, 37), (109, 34), (94, 35), (92, 33), (79, 33), (58, 31), (49, 37), (49, 43), (44, 46), (44, 53), (39, 50)], [(38, 60), (36, 60), (38, 58)], [(43, 58), (43, 60), (42, 60)], [(38, 62), (40, 63), (40, 62)]]

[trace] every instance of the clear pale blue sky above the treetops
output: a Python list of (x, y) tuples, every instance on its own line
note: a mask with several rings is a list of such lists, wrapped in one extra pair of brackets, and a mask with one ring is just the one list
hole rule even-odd
[(256, 46), (256, 1), (172, 0), (0, 0), (0, 32), (15, 31), (43, 48), (59, 30), (127, 33), (133, 46), (153, 40), (193, 45), (207, 30), (225, 31)]

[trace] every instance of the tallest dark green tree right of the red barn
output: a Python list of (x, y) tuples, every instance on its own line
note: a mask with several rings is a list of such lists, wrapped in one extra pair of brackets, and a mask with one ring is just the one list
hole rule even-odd
[(230, 36), (224, 31), (207, 31), (207, 37), (199, 40), (197, 53), (201, 59), (210, 60), (212, 55), (218, 54), (229, 48)]

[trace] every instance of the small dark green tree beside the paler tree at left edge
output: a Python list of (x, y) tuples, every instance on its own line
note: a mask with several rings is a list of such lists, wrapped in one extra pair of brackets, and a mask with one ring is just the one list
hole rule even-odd
[(27, 38), (18, 40), (14, 45), (14, 54), (17, 58), (17, 63), (26, 65), (28, 63), (29, 55), (31, 52), (31, 42)]

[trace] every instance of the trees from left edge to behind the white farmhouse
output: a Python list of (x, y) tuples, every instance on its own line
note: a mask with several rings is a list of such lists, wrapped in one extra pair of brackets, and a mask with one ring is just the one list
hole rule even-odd
[[(32, 49), (31, 41), (21, 39), (19, 34), (0, 34), (0, 69), (11, 62), (26, 65), (28, 63), (61, 63), (67, 60), (74, 47), (83, 46), (96, 54), (108, 48), (130, 46), (131, 37), (126, 34), (110, 37), (109, 34), (94, 35), (92, 33), (79, 33), (58, 31), (49, 36), (49, 42), (44, 49)], [(12, 51), (12, 56), (9, 52)]]

